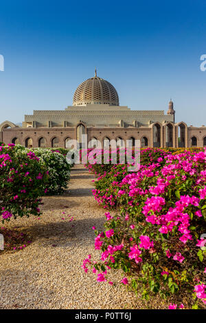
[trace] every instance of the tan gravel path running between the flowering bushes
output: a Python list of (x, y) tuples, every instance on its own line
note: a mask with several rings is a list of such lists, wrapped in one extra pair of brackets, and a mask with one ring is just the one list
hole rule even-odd
[[(81, 268), (89, 253), (97, 258), (100, 255), (94, 249), (91, 228), (95, 225), (101, 229), (104, 223), (104, 209), (91, 194), (92, 179), (86, 169), (76, 165), (65, 195), (43, 198), (40, 219), (22, 218), (6, 225), (27, 231), (32, 244), (0, 255), (0, 309), (143, 307), (133, 293), (97, 282), (93, 273), (84, 273)], [(69, 222), (68, 215), (73, 221)], [(121, 278), (119, 273), (113, 275), (116, 280)]]

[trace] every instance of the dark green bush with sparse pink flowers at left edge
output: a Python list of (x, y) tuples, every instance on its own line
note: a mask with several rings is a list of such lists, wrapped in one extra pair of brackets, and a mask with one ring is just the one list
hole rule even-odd
[(21, 154), (21, 149), (13, 144), (1, 146), (0, 178), (1, 220), (40, 214), (38, 205), (48, 176), (33, 152)]

